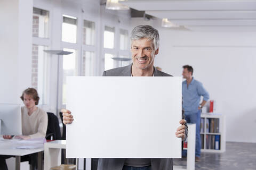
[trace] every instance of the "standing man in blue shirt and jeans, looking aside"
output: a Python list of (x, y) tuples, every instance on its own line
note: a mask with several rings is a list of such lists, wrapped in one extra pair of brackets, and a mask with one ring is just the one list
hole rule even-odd
[[(209, 93), (204, 89), (203, 84), (193, 77), (193, 67), (190, 65), (183, 66), (182, 96), (183, 109), (185, 110), (187, 123), (196, 123), (196, 162), (200, 161), (201, 156), (201, 137), (200, 137), (200, 119), (201, 109), (209, 100)], [(201, 96), (203, 102), (201, 104)], [(182, 151), (182, 156), (187, 156), (187, 150)]]

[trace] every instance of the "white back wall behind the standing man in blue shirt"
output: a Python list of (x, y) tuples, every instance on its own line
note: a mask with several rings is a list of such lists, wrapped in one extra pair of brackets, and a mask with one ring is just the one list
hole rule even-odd
[[(133, 25), (141, 24), (133, 20)], [(150, 23), (149, 23), (150, 24)], [(159, 54), (155, 65), (181, 76), (192, 65), (216, 100), (218, 113), (226, 115), (227, 141), (256, 142), (256, 32), (194, 32), (159, 27)]]

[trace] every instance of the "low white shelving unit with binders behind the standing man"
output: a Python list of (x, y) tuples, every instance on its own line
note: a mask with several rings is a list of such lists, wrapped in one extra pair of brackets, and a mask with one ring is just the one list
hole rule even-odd
[[(204, 131), (201, 132), (201, 138), (203, 135), (204, 143), (202, 143), (203, 148), (201, 152), (225, 152), (226, 151), (226, 118), (225, 115), (218, 113), (202, 113), (201, 118), (204, 118)], [(206, 132), (206, 119), (215, 118), (219, 119), (219, 132), (218, 133), (208, 133)], [(210, 126), (211, 122), (209, 123)], [(220, 149), (206, 149), (206, 135), (220, 135)]]

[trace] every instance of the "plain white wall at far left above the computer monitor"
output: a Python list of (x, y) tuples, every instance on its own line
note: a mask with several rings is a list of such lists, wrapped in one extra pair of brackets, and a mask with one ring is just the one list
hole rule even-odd
[(31, 86), (32, 5), (0, 1), (0, 103), (22, 103), (22, 91)]

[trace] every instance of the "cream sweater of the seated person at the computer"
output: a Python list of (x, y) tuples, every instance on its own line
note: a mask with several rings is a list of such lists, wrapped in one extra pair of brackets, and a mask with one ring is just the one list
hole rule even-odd
[(22, 135), (29, 135), (31, 139), (45, 138), (48, 116), (41, 108), (36, 109), (30, 116), (26, 107), (21, 107)]

